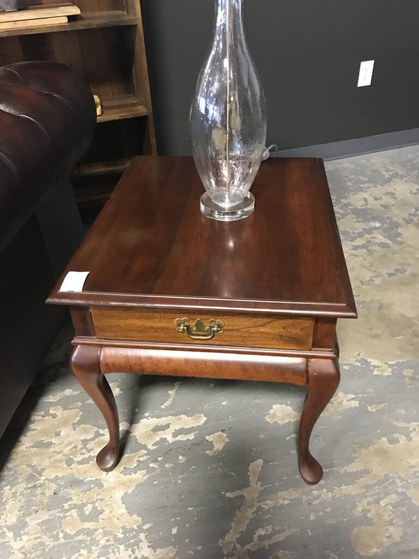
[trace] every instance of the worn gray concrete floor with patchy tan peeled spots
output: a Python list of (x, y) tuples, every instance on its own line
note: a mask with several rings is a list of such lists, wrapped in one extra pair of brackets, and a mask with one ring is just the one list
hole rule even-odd
[(66, 324), (0, 442), (1, 558), (419, 558), (419, 147), (326, 168), (360, 317), (311, 438), (323, 480), (297, 470), (304, 389), (122, 374), (101, 472)]

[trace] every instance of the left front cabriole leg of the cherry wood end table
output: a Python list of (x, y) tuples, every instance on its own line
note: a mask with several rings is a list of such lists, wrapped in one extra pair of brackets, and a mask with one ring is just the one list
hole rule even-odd
[(84, 390), (101, 410), (109, 431), (109, 442), (96, 456), (104, 472), (113, 470), (119, 456), (119, 416), (112, 390), (101, 372), (98, 347), (78, 345), (71, 354), (71, 370)]

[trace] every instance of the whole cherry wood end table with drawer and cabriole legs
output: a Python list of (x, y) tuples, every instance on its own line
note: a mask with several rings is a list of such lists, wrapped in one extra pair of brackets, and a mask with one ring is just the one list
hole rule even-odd
[[(338, 318), (355, 318), (323, 163), (269, 159), (252, 187), (254, 213), (218, 222), (200, 213), (189, 157), (133, 159), (52, 291), (69, 305), (71, 368), (101, 410), (119, 457), (119, 419), (105, 373), (265, 380), (308, 386), (298, 434), (300, 472), (314, 423), (339, 384)], [(60, 291), (88, 271), (79, 291)]]

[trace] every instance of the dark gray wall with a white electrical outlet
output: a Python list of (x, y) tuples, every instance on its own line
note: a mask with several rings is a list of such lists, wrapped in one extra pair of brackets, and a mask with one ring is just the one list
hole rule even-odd
[[(214, 0), (142, 0), (161, 154), (189, 154), (189, 104)], [(245, 0), (249, 48), (281, 150), (419, 127), (418, 0)], [(372, 86), (357, 87), (360, 61)]]

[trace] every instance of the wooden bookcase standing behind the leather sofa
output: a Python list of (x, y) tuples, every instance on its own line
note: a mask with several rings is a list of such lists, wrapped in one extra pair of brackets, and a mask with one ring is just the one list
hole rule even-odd
[[(45, 6), (57, 0), (34, 0)], [(75, 68), (101, 99), (96, 133), (75, 170), (80, 205), (108, 197), (132, 157), (156, 154), (140, 0), (73, 0), (68, 23), (0, 30), (0, 65), (55, 60)]]

